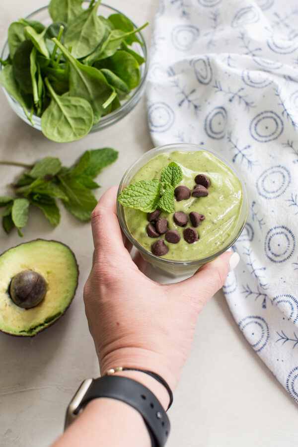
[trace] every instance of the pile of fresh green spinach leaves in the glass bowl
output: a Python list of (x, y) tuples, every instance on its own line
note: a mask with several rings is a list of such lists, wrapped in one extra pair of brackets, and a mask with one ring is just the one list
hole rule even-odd
[(51, 0), (53, 23), (19, 19), (8, 28), (9, 56), (0, 64), (0, 83), (21, 105), (28, 120), (41, 117), (50, 140), (82, 138), (101, 117), (121, 106), (140, 83), (144, 58), (140, 28), (123, 14), (105, 18), (100, 0)]

